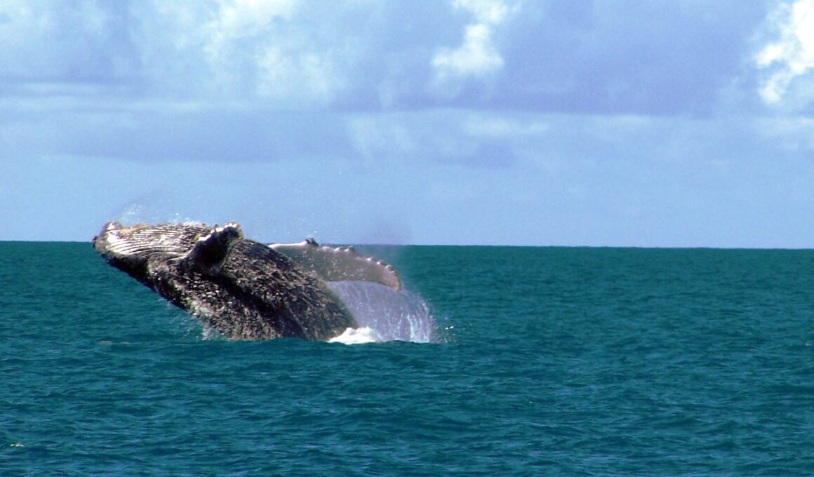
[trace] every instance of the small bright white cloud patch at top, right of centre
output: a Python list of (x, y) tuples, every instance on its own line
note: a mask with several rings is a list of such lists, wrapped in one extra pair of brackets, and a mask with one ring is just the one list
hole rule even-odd
[(438, 77), (484, 77), (503, 68), (492, 34), (512, 9), (500, 0), (455, 0), (453, 6), (469, 11), (475, 22), (466, 25), (461, 46), (435, 53), (432, 66)]

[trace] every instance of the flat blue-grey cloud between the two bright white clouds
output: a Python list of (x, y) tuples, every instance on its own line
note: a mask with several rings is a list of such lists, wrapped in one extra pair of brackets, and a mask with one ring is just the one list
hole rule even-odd
[(711, 114), (743, 73), (762, 2), (523, 3), (492, 103), (536, 112)]

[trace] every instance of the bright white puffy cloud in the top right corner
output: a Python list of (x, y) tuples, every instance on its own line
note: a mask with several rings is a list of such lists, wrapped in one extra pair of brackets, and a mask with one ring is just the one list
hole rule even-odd
[[(814, 0), (785, 3), (770, 21), (779, 38), (759, 51), (755, 63), (771, 71), (759, 91), (761, 98), (777, 104), (786, 98), (795, 81), (810, 80), (807, 77), (814, 69)], [(807, 92), (807, 97), (795, 99), (807, 102), (814, 95)]]

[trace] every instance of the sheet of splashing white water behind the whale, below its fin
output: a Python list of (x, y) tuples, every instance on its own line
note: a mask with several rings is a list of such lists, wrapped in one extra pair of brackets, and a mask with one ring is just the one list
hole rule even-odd
[(420, 296), (375, 282), (329, 282), (328, 286), (348, 306), (359, 325), (332, 341), (345, 344), (435, 341), (435, 321)]

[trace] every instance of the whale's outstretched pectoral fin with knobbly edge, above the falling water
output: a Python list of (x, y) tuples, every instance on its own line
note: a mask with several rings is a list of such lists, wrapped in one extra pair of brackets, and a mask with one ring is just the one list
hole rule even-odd
[(269, 247), (329, 282), (378, 282), (401, 289), (401, 278), (392, 265), (359, 255), (353, 247), (319, 245), (313, 238), (300, 243), (273, 243)]

